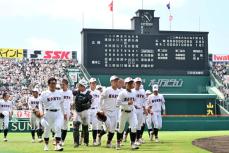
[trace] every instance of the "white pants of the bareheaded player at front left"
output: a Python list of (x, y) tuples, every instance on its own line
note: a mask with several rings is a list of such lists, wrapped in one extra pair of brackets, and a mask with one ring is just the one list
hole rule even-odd
[(61, 127), (64, 121), (63, 113), (61, 111), (46, 111), (44, 119), (47, 121), (47, 125), (44, 127), (44, 138), (49, 138), (51, 129), (54, 130), (55, 137), (61, 137)]

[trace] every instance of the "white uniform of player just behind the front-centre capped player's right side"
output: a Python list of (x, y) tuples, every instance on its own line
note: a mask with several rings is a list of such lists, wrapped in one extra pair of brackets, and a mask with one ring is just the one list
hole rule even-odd
[(143, 107), (146, 106), (146, 94), (144, 89), (133, 89), (132, 91), (135, 93), (134, 107), (136, 109), (136, 115), (138, 120), (137, 130), (141, 130), (141, 127), (145, 121)]

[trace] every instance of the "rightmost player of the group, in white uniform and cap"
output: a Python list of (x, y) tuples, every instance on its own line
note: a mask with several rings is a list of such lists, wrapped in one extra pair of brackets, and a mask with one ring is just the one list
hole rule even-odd
[(163, 110), (163, 114), (165, 114), (165, 99), (163, 95), (158, 93), (158, 85), (153, 85), (153, 94), (148, 97), (148, 105), (153, 114), (154, 129), (151, 135), (155, 135), (155, 142), (159, 142), (158, 131), (162, 128), (161, 111)]

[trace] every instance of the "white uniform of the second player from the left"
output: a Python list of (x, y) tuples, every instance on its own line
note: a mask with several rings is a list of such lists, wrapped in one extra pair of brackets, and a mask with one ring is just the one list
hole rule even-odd
[(39, 102), (40, 102), (39, 100), (40, 100), (39, 97), (35, 98), (31, 96), (28, 98), (28, 106), (29, 106), (29, 110), (31, 111), (30, 124), (32, 130), (36, 130), (36, 128), (40, 128), (39, 127), (40, 119), (33, 112), (34, 109), (39, 108)]

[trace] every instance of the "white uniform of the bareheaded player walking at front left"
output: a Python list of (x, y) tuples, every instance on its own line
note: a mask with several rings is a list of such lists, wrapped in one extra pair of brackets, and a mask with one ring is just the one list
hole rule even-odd
[(63, 125), (64, 97), (60, 90), (54, 92), (47, 90), (40, 96), (39, 110), (43, 112), (47, 124), (44, 126), (44, 138), (49, 138), (51, 129), (54, 129), (55, 137), (61, 137), (61, 127)]

